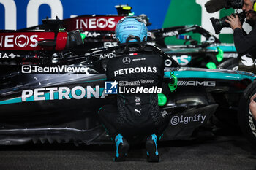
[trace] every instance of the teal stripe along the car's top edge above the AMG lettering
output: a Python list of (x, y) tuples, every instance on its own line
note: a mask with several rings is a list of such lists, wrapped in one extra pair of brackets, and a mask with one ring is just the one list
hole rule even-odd
[[(233, 74), (223, 72), (206, 72), (206, 71), (173, 71), (177, 78), (208, 78), (208, 79), (225, 79), (225, 80), (255, 80), (256, 77), (244, 74)], [(170, 78), (170, 72), (165, 72), (165, 77)]]

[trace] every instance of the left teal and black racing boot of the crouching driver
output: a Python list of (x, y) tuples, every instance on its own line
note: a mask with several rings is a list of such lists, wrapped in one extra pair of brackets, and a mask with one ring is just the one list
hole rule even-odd
[(115, 138), (116, 142), (116, 156), (114, 158), (114, 161), (125, 161), (125, 158), (127, 157), (127, 152), (129, 150), (129, 143), (126, 139), (124, 139), (121, 134), (116, 135)]

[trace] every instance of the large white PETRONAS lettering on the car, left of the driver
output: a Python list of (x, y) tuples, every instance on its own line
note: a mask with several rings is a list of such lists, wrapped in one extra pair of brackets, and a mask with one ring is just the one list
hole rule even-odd
[(105, 98), (104, 88), (99, 85), (92, 88), (91, 86), (75, 86), (68, 87), (54, 87), (54, 88), (36, 88), (34, 90), (23, 90), (21, 94), (21, 101), (46, 101), (46, 100), (70, 100), (74, 99), (91, 99), (91, 98)]

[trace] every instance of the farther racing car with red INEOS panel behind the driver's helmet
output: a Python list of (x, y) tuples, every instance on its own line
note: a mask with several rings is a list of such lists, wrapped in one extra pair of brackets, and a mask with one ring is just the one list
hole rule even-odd
[[(75, 47), (72, 53), (86, 53), (94, 48), (106, 48), (117, 45), (115, 28), (116, 23), (127, 15), (133, 15), (132, 7), (128, 5), (117, 5), (118, 15), (80, 15), (75, 18), (67, 18), (53, 23), (52, 26), (34, 26), (21, 29), (19, 31), (53, 30), (65, 29), (66, 31), (80, 30), (86, 35), (85, 44)], [(147, 26), (151, 23), (147, 15), (138, 15)], [(58, 24), (57, 24), (58, 23)], [(203, 42), (197, 42), (194, 35), (204, 36)], [(166, 39), (176, 37), (183, 39), (184, 45), (167, 45)], [(238, 61), (230, 66), (230, 62), (222, 66), (230, 58), (238, 58), (233, 45), (221, 44), (216, 36), (206, 31), (200, 26), (174, 26), (170, 28), (160, 28), (148, 31), (148, 44), (155, 45), (170, 55), (181, 66), (192, 66), (208, 69), (237, 69)], [(219, 67), (218, 67), (219, 66)]]

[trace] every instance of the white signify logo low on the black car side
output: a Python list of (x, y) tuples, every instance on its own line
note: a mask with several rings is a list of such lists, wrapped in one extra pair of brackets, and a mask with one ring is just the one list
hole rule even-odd
[(200, 122), (203, 123), (204, 120), (206, 120), (206, 115), (201, 115), (201, 114), (195, 114), (194, 116), (173, 116), (170, 119), (170, 124), (171, 125), (178, 125), (179, 123), (183, 123), (187, 125), (187, 123), (192, 123), (192, 122)]

